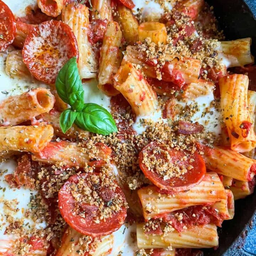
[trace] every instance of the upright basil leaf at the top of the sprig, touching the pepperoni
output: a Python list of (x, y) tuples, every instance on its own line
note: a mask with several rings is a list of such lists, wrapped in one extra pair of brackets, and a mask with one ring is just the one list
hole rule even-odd
[(60, 98), (68, 103), (73, 110), (80, 111), (84, 106), (84, 90), (82, 87), (76, 57), (68, 62), (59, 71), (55, 82)]

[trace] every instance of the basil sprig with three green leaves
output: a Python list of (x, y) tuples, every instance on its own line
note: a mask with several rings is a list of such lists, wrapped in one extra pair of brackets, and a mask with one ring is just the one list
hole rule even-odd
[(110, 112), (95, 103), (84, 103), (84, 90), (76, 57), (68, 60), (59, 71), (55, 86), (60, 98), (71, 106), (60, 115), (60, 128), (63, 133), (66, 133), (73, 123), (83, 130), (102, 135), (117, 132)]

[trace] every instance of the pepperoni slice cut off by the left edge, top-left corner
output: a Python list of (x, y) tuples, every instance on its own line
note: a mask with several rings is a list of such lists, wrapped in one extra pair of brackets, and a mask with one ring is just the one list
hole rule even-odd
[(0, 0), (0, 52), (12, 44), (16, 35), (15, 17), (10, 8)]

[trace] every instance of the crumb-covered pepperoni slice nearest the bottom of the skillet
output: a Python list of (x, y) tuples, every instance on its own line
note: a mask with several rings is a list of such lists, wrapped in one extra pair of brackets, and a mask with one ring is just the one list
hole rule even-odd
[(127, 215), (123, 191), (101, 173), (71, 176), (59, 191), (59, 209), (73, 229), (92, 237), (113, 233)]

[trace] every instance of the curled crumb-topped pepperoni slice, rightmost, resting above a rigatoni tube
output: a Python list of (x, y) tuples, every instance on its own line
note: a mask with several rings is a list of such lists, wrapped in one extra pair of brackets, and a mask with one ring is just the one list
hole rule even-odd
[(206, 173), (204, 160), (197, 152), (175, 150), (159, 142), (151, 142), (140, 151), (139, 165), (155, 186), (169, 191), (188, 190)]

